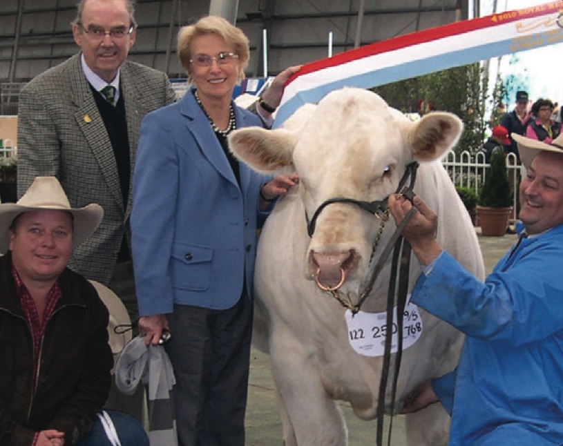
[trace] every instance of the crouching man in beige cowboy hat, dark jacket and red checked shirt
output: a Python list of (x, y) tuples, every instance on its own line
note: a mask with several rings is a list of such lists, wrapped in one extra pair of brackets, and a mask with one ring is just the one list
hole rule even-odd
[[(97, 204), (71, 209), (55, 177), (0, 204), (0, 445), (115, 444), (97, 417), (113, 367), (108, 311), (66, 267), (103, 214)], [(129, 420), (115, 415), (120, 432)]]

